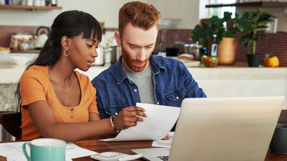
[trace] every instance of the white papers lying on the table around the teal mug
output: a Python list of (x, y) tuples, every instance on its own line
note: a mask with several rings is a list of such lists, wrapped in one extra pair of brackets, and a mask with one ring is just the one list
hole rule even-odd
[[(26, 161), (26, 157), (22, 151), (22, 145), (25, 142), (15, 143), (1, 143), (0, 155), (7, 157), (7, 161)], [(30, 148), (26, 145), (27, 153), (30, 155)], [(89, 155), (98, 154), (97, 152), (81, 148), (73, 143), (67, 143), (66, 145), (66, 161), (70, 161), (73, 158), (85, 157)]]

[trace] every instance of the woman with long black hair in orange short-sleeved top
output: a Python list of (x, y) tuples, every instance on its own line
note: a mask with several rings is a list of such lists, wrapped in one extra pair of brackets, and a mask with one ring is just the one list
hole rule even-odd
[(96, 89), (89, 77), (74, 71), (92, 67), (101, 36), (99, 22), (88, 13), (66, 11), (55, 18), (48, 40), (17, 87), (22, 140), (44, 137), (72, 142), (115, 134), (143, 121), (134, 117), (146, 117), (140, 107), (101, 120)]

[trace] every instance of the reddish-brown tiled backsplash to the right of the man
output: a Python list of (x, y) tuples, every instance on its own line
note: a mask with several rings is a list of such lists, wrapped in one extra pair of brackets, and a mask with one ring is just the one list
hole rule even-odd
[[(192, 29), (161, 29), (158, 32), (157, 45), (155, 50), (165, 51), (165, 48), (179, 47), (179, 52), (183, 53), (183, 45), (175, 45), (175, 41), (181, 41), (184, 43), (193, 43), (190, 40)], [(256, 43), (256, 53), (260, 53), (261, 64), (264, 62), (264, 56), (266, 54), (277, 56), (280, 60), (281, 67), (287, 67), (287, 33), (264, 33), (259, 32), (265, 37), (260, 39)], [(237, 38), (240, 37), (238, 33)], [(237, 61), (247, 62), (246, 54), (252, 53), (252, 45), (248, 45), (246, 48), (244, 44), (240, 44), (237, 50)]]

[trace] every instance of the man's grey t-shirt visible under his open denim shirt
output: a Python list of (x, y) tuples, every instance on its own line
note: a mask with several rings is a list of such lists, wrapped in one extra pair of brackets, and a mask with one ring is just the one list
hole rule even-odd
[(131, 73), (125, 70), (124, 72), (128, 78), (138, 87), (141, 103), (156, 104), (153, 90), (151, 66), (141, 72)]

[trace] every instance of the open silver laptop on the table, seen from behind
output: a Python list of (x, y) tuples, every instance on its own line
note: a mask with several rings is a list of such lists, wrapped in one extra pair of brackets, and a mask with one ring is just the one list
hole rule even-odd
[(150, 161), (263, 161), (284, 96), (187, 98), (171, 148), (132, 150)]

